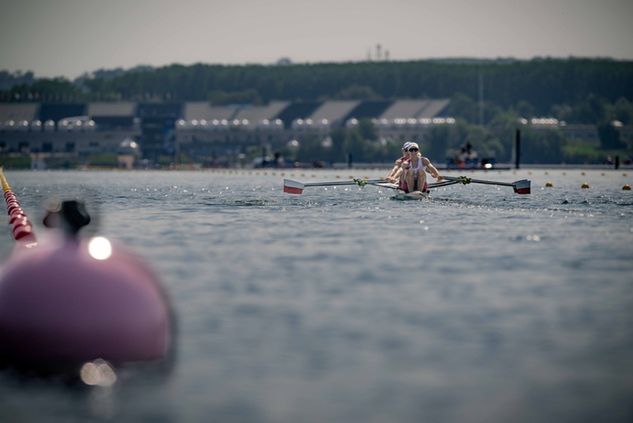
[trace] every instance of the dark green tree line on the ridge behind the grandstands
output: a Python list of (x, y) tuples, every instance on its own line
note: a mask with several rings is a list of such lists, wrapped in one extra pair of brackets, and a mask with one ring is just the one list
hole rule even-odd
[[(6, 74), (6, 72), (4, 72)], [(100, 70), (75, 81), (31, 78), (3, 101), (213, 101), (452, 98), (551, 115), (589, 98), (633, 100), (633, 62), (610, 59), (423, 60), (291, 65), (169, 65)], [(1, 74), (0, 74), (1, 76)], [(6, 78), (5, 80), (9, 78)], [(481, 83), (481, 85), (480, 85)], [(1, 87), (1, 86), (0, 86)], [(591, 116), (577, 115), (588, 120)]]

